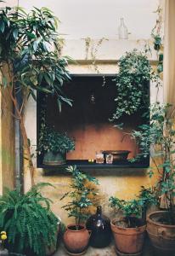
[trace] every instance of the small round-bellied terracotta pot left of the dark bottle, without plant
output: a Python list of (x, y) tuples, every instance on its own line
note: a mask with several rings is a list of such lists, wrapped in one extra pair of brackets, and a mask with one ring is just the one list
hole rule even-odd
[(88, 248), (90, 234), (91, 231), (88, 231), (82, 224), (79, 226), (79, 230), (76, 230), (75, 224), (68, 225), (63, 236), (67, 252), (71, 255), (85, 253)]

